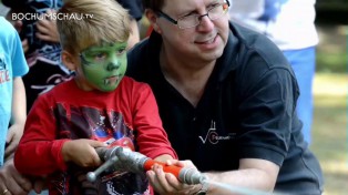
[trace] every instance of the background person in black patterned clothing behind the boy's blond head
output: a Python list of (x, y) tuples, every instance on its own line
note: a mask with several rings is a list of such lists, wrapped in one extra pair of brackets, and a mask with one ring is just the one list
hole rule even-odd
[[(72, 78), (72, 72), (61, 62), (55, 21), (45, 17), (55, 13), (63, 0), (2, 0), (2, 3), (10, 8), (7, 19), (20, 33), (29, 64), (29, 73), (23, 76), (28, 113), (39, 94)], [(17, 19), (23, 13), (31, 14)]]

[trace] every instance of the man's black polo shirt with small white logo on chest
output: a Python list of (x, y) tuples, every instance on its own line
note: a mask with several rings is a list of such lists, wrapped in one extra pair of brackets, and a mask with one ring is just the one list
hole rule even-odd
[(280, 166), (276, 191), (320, 194), (321, 171), (295, 112), (299, 93), (291, 68), (266, 37), (232, 23), (229, 29), (196, 107), (161, 72), (162, 38), (155, 32), (129, 53), (127, 74), (151, 85), (181, 160), (203, 172), (237, 170), (240, 158), (267, 160)]

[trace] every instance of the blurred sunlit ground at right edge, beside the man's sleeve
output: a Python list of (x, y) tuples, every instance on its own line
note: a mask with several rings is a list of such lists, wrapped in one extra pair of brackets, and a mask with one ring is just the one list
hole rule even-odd
[(347, 92), (347, 74), (316, 74), (311, 151), (321, 164), (327, 195), (348, 192)]

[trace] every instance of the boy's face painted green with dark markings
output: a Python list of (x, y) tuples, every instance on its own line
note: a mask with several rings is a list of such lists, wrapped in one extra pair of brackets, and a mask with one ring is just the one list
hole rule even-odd
[(103, 43), (81, 52), (85, 80), (103, 92), (117, 88), (126, 71), (126, 42)]

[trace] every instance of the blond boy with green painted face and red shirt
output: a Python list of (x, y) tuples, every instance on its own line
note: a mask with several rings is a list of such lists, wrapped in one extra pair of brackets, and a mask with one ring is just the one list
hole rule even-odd
[(58, 16), (62, 61), (75, 76), (35, 101), (16, 167), (48, 176), (50, 194), (150, 194), (145, 175), (122, 170), (85, 181), (101, 165), (95, 147), (108, 144), (176, 158), (150, 86), (124, 76), (127, 12), (114, 0), (69, 0)]

